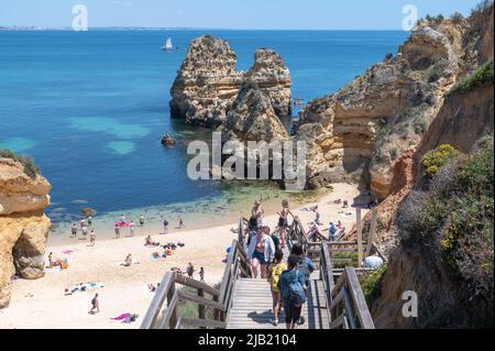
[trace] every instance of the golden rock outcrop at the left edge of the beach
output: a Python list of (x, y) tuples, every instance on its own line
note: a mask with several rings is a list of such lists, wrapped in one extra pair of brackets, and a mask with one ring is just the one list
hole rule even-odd
[(32, 178), (21, 163), (0, 158), (0, 308), (9, 304), (14, 274), (26, 279), (44, 276), (50, 190), (42, 176)]

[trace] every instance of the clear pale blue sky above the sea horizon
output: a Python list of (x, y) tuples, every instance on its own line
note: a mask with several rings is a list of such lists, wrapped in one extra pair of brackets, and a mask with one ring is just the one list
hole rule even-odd
[(403, 7), (419, 15), (469, 14), (480, 0), (0, 0), (0, 25), (70, 26), (75, 4), (89, 26), (399, 30)]

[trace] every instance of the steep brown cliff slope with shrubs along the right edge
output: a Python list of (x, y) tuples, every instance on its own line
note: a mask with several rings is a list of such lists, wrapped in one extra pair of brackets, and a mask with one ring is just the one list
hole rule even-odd
[[(377, 209), (375, 240), (389, 255), (371, 306), (380, 328), (493, 328), (493, 136), (484, 136), (494, 129), (493, 6), (460, 25), (461, 42), (476, 50), (462, 56), (420, 143), (395, 163)], [(425, 180), (424, 156), (441, 144), (462, 154)], [(407, 290), (419, 318), (402, 314)]]

